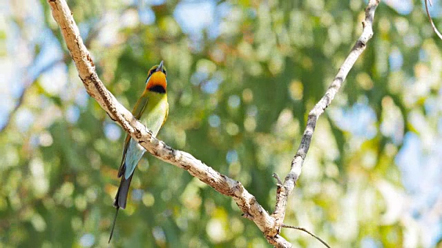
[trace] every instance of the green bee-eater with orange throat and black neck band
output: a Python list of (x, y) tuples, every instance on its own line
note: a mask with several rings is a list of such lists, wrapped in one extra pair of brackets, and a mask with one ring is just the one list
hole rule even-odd
[[(146, 79), (146, 87), (140, 99), (138, 99), (132, 114), (141, 123), (152, 131), (155, 137), (164, 125), (167, 115), (169, 114), (169, 103), (167, 103), (167, 79), (166, 68), (164, 68), (163, 61), (160, 65), (155, 65), (149, 70)], [(146, 150), (131, 136), (126, 135), (123, 146), (123, 158), (118, 169), (118, 177), (122, 180), (119, 183), (117, 195), (114, 200), (114, 207), (117, 208), (109, 242), (111, 242), (113, 229), (115, 227), (115, 220), (117, 220), (118, 209), (126, 208), (127, 194), (133, 172), (138, 162), (142, 158)]]

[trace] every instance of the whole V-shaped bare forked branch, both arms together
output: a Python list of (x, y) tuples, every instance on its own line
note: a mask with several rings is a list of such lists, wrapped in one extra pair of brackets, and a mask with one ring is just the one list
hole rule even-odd
[(294, 189), (296, 180), (300, 176), (300, 169), (309, 149), (316, 120), (330, 104), (354, 62), (365, 49), (367, 41), (372, 37), (374, 10), (376, 6), (378, 6), (379, 0), (369, 1), (365, 21), (363, 22), (363, 34), (356, 42), (356, 45), (354, 45), (352, 52), (350, 52), (345, 63), (340, 68), (338, 75), (325, 93), (325, 96), (323, 96), (323, 99), (311, 110), (300, 147), (291, 163), (291, 171), (285, 178), (284, 184), (278, 185), (276, 209), (271, 215), (256, 201), (255, 196), (247, 192), (247, 189), (245, 189), (240, 182), (220, 174), (191, 154), (173, 149), (163, 141), (159, 141), (153, 137), (152, 132), (137, 121), (131, 112), (121, 105), (121, 103), (115, 99), (115, 96), (113, 96), (111, 92), (108, 92), (102, 81), (100, 81), (95, 72), (93, 60), (79, 35), (79, 30), (66, 1), (48, 0), (48, 3), (52, 11), (52, 16), (60, 26), (61, 33), (73, 57), (73, 61), (77, 66), (79, 77), (81, 81), (83, 81), (86, 91), (102, 106), (106, 113), (111, 116), (115, 122), (121, 125), (124, 131), (128, 132), (132, 138), (138, 141), (147, 152), (166, 163), (185, 169), (189, 174), (197, 177), (216, 191), (233, 198), (244, 213), (243, 216), (251, 219), (253, 223), (257, 225), (271, 245), (275, 245), (276, 247), (292, 247), (285, 238), (279, 235), (285, 216), (287, 198)]

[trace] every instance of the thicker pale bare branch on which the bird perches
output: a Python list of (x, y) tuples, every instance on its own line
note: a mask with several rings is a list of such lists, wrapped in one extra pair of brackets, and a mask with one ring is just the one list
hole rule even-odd
[(153, 156), (185, 169), (189, 174), (210, 185), (216, 191), (233, 198), (238, 207), (244, 212), (244, 216), (253, 220), (269, 243), (278, 247), (291, 247), (291, 244), (285, 238), (278, 235), (279, 229), (276, 229), (275, 220), (256, 201), (255, 196), (247, 192), (247, 189), (240, 182), (220, 174), (191, 154), (173, 149), (164, 142), (157, 140), (152, 136), (150, 130), (137, 121), (131, 112), (121, 105), (111, 92), (108, 92), (95, 72), (95, 65), (79, 35), (79, 30), (66, 1), (49, 0), (48, 3), (52, 10), (52, 16), (60, 26), (61, 33), (77, 66), (79, 77), (83, 81), (86, 91), (102, 106), (109, 116), (115, 119), (132, 138), (138, 141)]

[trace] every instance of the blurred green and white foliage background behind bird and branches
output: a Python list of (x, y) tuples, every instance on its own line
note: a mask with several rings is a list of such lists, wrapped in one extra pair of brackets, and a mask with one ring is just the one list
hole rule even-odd
[[(289, 171), (309, 110), (361, 34), (366, 2), (68, 5), (108, 90), (132, 109), (164, 60), (170, 112), (159, 138), (273, 211), (271, 174)], [(107, 247), (125, 134), (86, 94), (48, 3), (0, 6), (0, 247)], [(441, 45), (421, 1), (382, 1), (373, 39), (318, 121), (285, 223), (332, 247), (441, 247)], [(269, 247), (241, 214), (146, 154), (112, 243)], [(322, 247), (300, 231), (282, 235)]]

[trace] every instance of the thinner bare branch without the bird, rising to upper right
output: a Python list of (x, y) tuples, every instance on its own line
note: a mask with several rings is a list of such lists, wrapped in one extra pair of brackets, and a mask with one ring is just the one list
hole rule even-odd
[(368, 6), (365, 9), (365, 20), (362, 23), (363, 32), (361, 34), (361, 37), (359, 37), (359, 39), (356, 41), (356, 44), (353, 46), (352, 50), (347, 56), (347, 59), (345, 59), (343, 65), (339, 68), (338, 74), (336, 74), (332, 84), (329, 86), (327, 92), (325, 92), (323, 98), (320, 99), (318, 103), (316, 103), (313, 110), (311, 110), (309, 113), (307, 126), (305, 127), (304, 134), (302, 135), (302, 140), (299, 145), (298, 152), (296, 152), (296, 155), (291, 161), (290, 172), (285, 177), (282, 187), (278, 187), (276, 191), (276, 207), (271, 216), (275, 218), (278, 226), (282, 226), (283, 224), (287, 207), (287, 200), (296, 185), (296, 181), (301, 174), (302, 164), (304, 163), (305, 156), (309, 151), (311, 137), (313, 136), (316, 127), (316, 121), (318, 121), (319, 116), (323, 114), (325, 109), (330, 105), (330, 103), (332, 103), (334, 96), (336, 95), (343, 81), (347, 77), (347, 74), (352, 69), (358, 57), (365, 50), (369, 39), (373, 37), (372, 25), (374, 19), (374, 11), (376, 10), (379, 2), (380, 0), (369, 1)]

